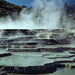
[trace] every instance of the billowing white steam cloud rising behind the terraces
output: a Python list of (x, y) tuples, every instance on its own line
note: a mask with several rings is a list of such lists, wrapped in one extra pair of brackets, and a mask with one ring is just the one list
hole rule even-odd
[(34, 9), (23, 9), (16, 20), (10, 16), (0, 19), (0, 29), (56, 29), (59, 27), (63, 0), (34, 0)]

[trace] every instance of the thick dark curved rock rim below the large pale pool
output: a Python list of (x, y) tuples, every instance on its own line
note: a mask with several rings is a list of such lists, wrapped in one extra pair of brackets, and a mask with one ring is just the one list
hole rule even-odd
[(30, 66), (30, 67), (11, 67), (6, 66), (4, 69), (7, 73), (17, 74), (40, 74), (40, 73), (53, 73), (57, 70), (56, 65), (46, 64), (44, 66)]

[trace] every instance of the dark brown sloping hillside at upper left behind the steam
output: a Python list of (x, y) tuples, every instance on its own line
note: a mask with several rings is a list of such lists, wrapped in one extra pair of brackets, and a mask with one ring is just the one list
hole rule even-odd
[(14, 4), (11, 4), (9, 2), (6, 2), (5, 0), (0, 0), (0, 17), (4, 17), (7, 15), (12, 15), (14, 12), (19, 12), (22, 10), (22, 8), (26, 8), (25, 6), (17, 6)]

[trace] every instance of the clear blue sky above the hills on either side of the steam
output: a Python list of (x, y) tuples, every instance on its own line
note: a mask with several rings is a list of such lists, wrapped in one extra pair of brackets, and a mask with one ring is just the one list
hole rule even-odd
[[(13, 3), (13, 4), (16, 4), (16, 5), (19, 5), (19, 6), (27, 6), (28, 8), (31, 6), (31, 3), (33, 0), (6, 0), (10, 3)], [(75, 4), (75, 0), (63, 0), (64, 2), (67, 2), (68, 5), (73, 5)]]

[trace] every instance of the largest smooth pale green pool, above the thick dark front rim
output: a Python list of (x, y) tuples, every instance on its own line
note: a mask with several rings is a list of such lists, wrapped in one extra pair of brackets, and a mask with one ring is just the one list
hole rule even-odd
[(32, 56), (29, 57), (13, 55), (9, 57), (0, 58), (0, 65), (17, 67), (43, 66), (44, 64), (49, 64), (53, 62), (55, 62), (55, 60), (53, 59)]

